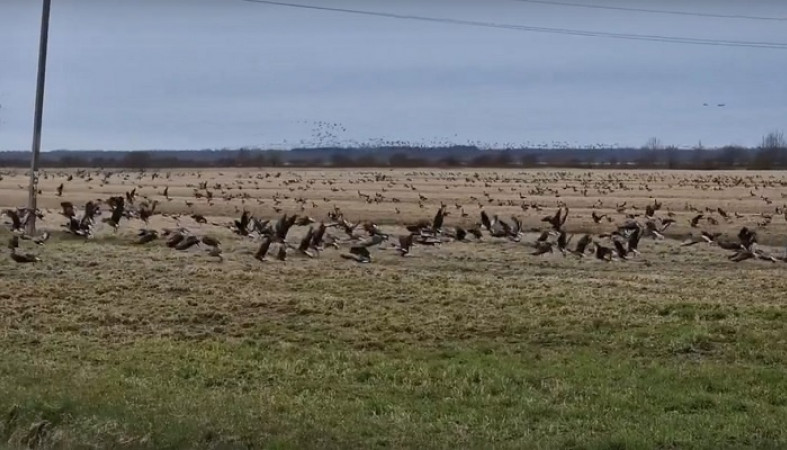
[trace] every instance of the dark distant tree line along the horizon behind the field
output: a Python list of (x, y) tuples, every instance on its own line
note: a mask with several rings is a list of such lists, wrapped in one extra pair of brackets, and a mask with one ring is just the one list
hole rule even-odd
[[(28, 167), (29, 152), (0, 152), (0, 166)], [(787, 141), (781, 132), (763, 137), (756, 148), (725, 146), (694, 149), (664, 146), (652, 138), (640, 148), (557, 148), (485, 150), (474, 146), (304, 148), (261, 150), (65, 151), (41, 154), (50, 168), (128, 169), (210, 167), (478, 167), (478, 168), (641, 168), (641, 169), (787, 169)]]

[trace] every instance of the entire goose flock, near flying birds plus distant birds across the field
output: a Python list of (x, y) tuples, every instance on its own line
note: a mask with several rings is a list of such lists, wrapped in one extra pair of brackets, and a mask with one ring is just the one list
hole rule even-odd
[[(3, 173), (0, 173), (0, 181), (3, 180)], [(7, 173), (5, 174), (7, 175)], [(12, 174), (13, 175), (13, 174)], [(522, 242), (526, 240), (526, 233), (535, 233), (534, 240), (525, 242), (525, 248), (534, 256), (559, 254), (563, 256), (572, 255), (579, 258), (591, 257), (603, 261), (629, 260), (640, 256), (639, 243), (643, 238), (665, 239), (666, 230), (671, 227), (679, 217), (672, 211), (663, 211), (662, 204), (658, 200), (652, 200), (645, 205), (635, 205), (634, 201), (623, 201), (616, 203), (614, 209), (610, 211), (611, 205), (604, 204), (605, 197), (627, 198), (631, 197), (631, 191), (643, 191), (641, 195), (650, 196), (653, 186), (663, 186), (667, 189), (696, 189), (706, 191), (702, 196), (711, 195), (713, 191), (727, 191), (730, 189), (743, 188), (743, 197), (738, 200), (751, 202), (762, 202), (765, 205), (772, 205), (775, 198), (765, 195), (765, 189), (784, 189), (787, 188), (787, 180), (782, 180), (772, 176), (735, 174), (691, 174), (676, 175), (669, 174), (636, 174), (636, 173), (592, 173), (592, 172), (537, 172), (528, 174), (515, 174), (513, 172), (500, 173), (468, 173), (468, 172), (425, 172), (414, 171), (403, 174), (402, 179), (384, 172), (361, 172), (353, 175), (355, 178), (346, 180), (346, 183), (339, 183), (338, 179), (330, 178), (306, 178), (303, 174), (294, 172), (264, 172), (237, 174), (234, 181), (227, 181), (228, 177), (223, 173), (218, 174), (220, 179), (216, 179), (209, 184), (209, 181), (202, 179), (202, 172), (139, 172), (135, 174), (129, 171), (102, 171), (102, 170), (79, 170), (76, 172), (48, 173), (43, 171), (41, 178), (58, 179), (54, 194), (62, 198), (69, 189), (68, 184), (79, 182), (80, 179), (86, 182), (87, 189), (93, 189), (97, 182), (99, 187), (110, 184), (133, 185), (133, 188), (124, 192), (123, 195), (111, 196), (107, 199), (87, 201), (81, 208), (77, 208), (74, 203), (63, 201), (60, 203), (59, 214), (64, 217), (62, 229), (65, 233), (80, 239), (89, 239), (94, 236), (99, 227), (109, 227), (117, 231), (123, 224), (135, 224), (140, 221), (142, 227), (134, 240), (136, 245), (155, 245), (155, 242), (164, 241), (166, 247), (174, 251), (190, 251), (193, 249), (204, 249), (210, 256), (223, 260), (223, 250), (221, 242), (211, 235), (200, 235), (193, 229), (204, 230), (202, 225), (208, 225), (207, 218), (196, 213), (194, 206), (197, 203), (204, 203), (205, 206), (213, 208), (217, 202), (233, 205), (240, 217), (232, 223), (213, 223), (209, 225), (216, 227), (228, 227), (236, 235), (258, 244), (257, 250), (253, 252), (254, 257), (260, 261), (267, 261), (268, 258), (278, 260), (287, 259), (288, 255), (303, 255), (309, 258), (318, 257), (326, 249), (333, 248), (340, 252), (341, 258), (355, 261), (358, 263), (370, 263), (373, 260), (375, 249), (394, 249), (402, 256), (411, 255), (416, 246), (438, 246), (447, 242), (478, 242), (490, 239), (508, 240)], [(159, 210), (159, 205), (165, 202), (173, 202), (175, 198), (170, 195), (171, 177), (192, 176), (199, 181), (196, 184), (186, 184), (186, 189), (191, 189), (193, 198), (184, 198), (181, 193), (181, 201), (190, 213), (177, 215), (166, 214)], [(62, 178), (60, 178), (62, 177)], [(142, 188), (142, 180), (149, 178), (151, 183), (163, 183), (163, 190), (158, 190), (155, 184), (157, 200), (153, 200), (145, 195), (137, 193), (137, 188)], [(379, 210), (383, 204), (391, 204), (395, 213), (400, 214), (399, 208), (402, 205), (401, 196), (417, 195), (417, 205), (427, 216), (426, 208), (428, 203), (435, 202), (437, 199), (428, 198), (437, 195), (436, 191), (424, 192), (416, 186), (416, 178), (420, 178), (418, 183), (430, 183), (439, 181), (439, 188), (469, 189), (477, 194), (470, 195), (470, 203), (449, 205), (440, 201), (437, 212), (431, 218), (416, 221), (406, 225), (406, 233), (392, 236), (384, 233), (373, 221), (348, 220), (348, 215), (335, 206), (331, 205), (334, 199), (361, 201), (367, 204), (369, 210)], [(637, 184), (638, 183), (638, 186)], [(321, 185), (321, 186), (320, 186)], [(363, 192), (365, 186), (376, 185), (373, 193)], [(526, 187), (527, 186), (527, 187)], [(24, 186), (19, 186), (24, 188)], [(275, 194), (252, 193), (255, 190), (273, 187), (277, 189)], [(309, 192), (316, 191), (318, 187), (329, 189), (331, 198), (323, 197), (319, 199), (318, 194), (309, 195)], [(280, 193), (278, 189), (284, 190)], [(527, 190), (523, 190), (527, 189)], [(125, 190), (125, 189), (124, 189)], [(39, 191), (40, 193), (40, 191)], [(357, 195), (357, 197), (356, 197)], [(428, 197), (427, 197), (428, 195)], [(566, 223), (569, 217), (578, 218), (576, 212), (570, 212), (567, 203), (561, 197), (568, 196), (574, 198), (596, 197), (597, 199), (591, 206), (589, 219), (592, 223), (600, 227), (609, 227), (607, 232), (600, 234), (580, 233), (572, 235), (566, 230)], [(636, 195), (634, 195), (636, 196)], [(782, 193), (782, 198), (787, 198), (787, 194)], [(558, 209), (555, 213), (544, 215), (551, 208), (538, 199), (554, 197), (557, 201), (555, 205)], [(263, 219), (249, 212), (249, 204), (256, 201), (262, 208), (272, 208), (275, 218)], [(240, 202), (240, 205), (237, 204)], [(307, 215), (307, 208), (317, 208), (318, 203), (323, 202), (327, 209), (324, 219), (315, 220)], [(478, 220), (474, 222), (471, 213), (465, 208), (473, 203), (477, 204), (480, 213)], [(589, 201), (586, 202), (589, 204)], [(328, 206), (332, 206), (328, 209)], [(454, 206), (456, 209), (454, 210)], [(528, 214), (535, 212), (540, 219), (537, 227), (524, 229), (522, 221), (511, 216), (510, 219), (501, 218), (498, 215), (487, 213), (488, 209), (510, 208), (521, 210)], [(769, 208), (772, 206), (768, 206)], [(172, 208), (169, 208), (172, 210)], [(451, 212), (449, 213), (449, 209)], [(510, 211), (509, 209), (509, 211)], [(606, 209), (608, 213), (599, 213)], [(285, 210), (294, 211), (288, 214)], [(685, 211), (691, 213), (688, 225), (692, 230), (699, 234), (692, 234), (680, 245), (689, 247), (697, 244), (716, 246), (731, 252), (729, 259), (740, 262), (747, 259), (759, 259), (765, 261), (786, 261), (787, 254), (775, 255), (768, 252), (765, 248), (758, 245), (757, 231), (767, 227), (775, 215), (783, 214), (787, 220), (787, 204), (784, 207), (775, 206), (774, 213), (760, 213), (756, 216), (743, 216), (737, 212), (727, 212), (723, 208), (698, 208), (688, 202)], [(47, 211), (47, 214), (52, 214)], [(611, 215), (619, 214), (622, 221), (614, 221)], [(446, 224), (446, 217), (449, 214), (461, 216), (458, 221), (461, 225), (449, 226)], [(50, 237), (49, 232), (37, 236), (27, 236), (24, 233), (28, 220), (33, 215), (43, 218), (44, 212), (29, 211), (25, 208), (7, 209), (3, 215), (8, 219), (8, 226), (12, 232), (8, 248), (11, 258), (17, 263), (34, 263), (40, 260), (39, 256), (33, 253), (25, 253), (20, 250), (20, 243), (30, 242), (33, 245), (44, 245)], [(154, 215), (161, 215), (175, 219), (176, 228), (173, 229), (152, 229), (149, 219)], [(724, 222), (732, 225), (736, 220), (744, 218), (747, 220), (748, 227), (740, 228), (737, 236), (727, 237), (721, 233), (713, 232), (715, 226)], [(584, 218), (581, 218), (584, 219)], [(755, 224), (752, 219), (757, 219)], [(194, 226), (191, 230), (181, 226), (181, 221), (193, 221)], [(683, 221), (684, 219), (680, 219)], [(533, 221), (531, 220), (531, 223)], [(467, 226), (467, 224), (471, 224)], [(305, 233), (290, 233), (294, 227), (302, 228)], [(576, 226), (574, 229), (580, 229)], [(710, 230), (710, 231), (706, 231)]]

